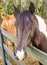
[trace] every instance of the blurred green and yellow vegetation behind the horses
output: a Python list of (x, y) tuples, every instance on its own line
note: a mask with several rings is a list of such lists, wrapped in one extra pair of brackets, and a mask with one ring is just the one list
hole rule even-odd
[(29, 3), (33, 2), (36, 7), (36, 14), (47, 18), (47, 1), (46, 0), (0, 0), (0, 17), (6, 14), (14, 14), (13, 3), (20, 10), (28, 9)]

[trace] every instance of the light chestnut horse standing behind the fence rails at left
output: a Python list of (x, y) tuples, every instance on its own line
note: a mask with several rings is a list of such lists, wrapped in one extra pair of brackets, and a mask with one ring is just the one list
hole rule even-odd
[[(1, 18), (2, 18), (1, 27), (5, 29), (7, 32), (9, 32), (11, 35), (16, 37), (16, 27), (14, 26), (16, 18), (14, 17), (14, 15), (7, 14), (5, 16), (1, 16)], [(6, 45), (12, 51), (14, 51), (14, 49), (16, 48), (16, 45), (9, 39), (6, 39)]]

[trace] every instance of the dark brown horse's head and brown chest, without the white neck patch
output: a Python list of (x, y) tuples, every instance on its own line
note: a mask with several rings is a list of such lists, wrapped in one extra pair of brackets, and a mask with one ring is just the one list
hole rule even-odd
[(25, 48), (29, 42), (32, 42), (35, 47), (47, 53), (47, 38), (45, 34), (39, 30), (37, 17), (34, 15), (34, 4), (32, 2), (30, 3), (29, 11), (24, 10), (20, 12), (15, 6), (14, 9), (18, 15), (15, 22), (15, 26), (17, 27), (17, 39), (19, 42), (15, 52), (17, 58), (20, 60), (25, 58)]

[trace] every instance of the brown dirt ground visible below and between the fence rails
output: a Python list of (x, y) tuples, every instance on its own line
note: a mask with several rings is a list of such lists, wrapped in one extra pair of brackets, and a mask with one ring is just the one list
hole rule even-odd
[[(12, 65), (17, 65), (17, 63), (11, 57), (9, 57), (9, 60), (12, 63)], [(30, 54), (28, 54), (27, 58), (24, 59), (23, 62), (26, 65), (39, 65), (39, 62)], [(4, 65), (2, 57), (0, 57), (0, 65)]]

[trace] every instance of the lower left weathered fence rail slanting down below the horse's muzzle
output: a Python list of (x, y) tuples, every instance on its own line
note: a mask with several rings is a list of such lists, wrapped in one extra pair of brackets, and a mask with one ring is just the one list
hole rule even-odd
[(14, 56), (13, 52), (10, 51), (10, 49), (4, 44), (4, 49), (7, 52), (7, 54), (18, 64), (18, 65), (25, 65), (25, 63), (23, 63), (20, 60), (17, 60), (16, 57)]

